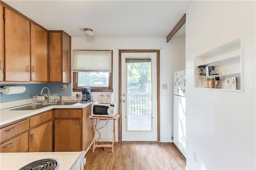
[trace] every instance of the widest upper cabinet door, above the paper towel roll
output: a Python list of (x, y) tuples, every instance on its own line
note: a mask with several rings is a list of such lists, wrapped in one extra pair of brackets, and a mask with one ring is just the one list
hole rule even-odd
[(5, 81), (30, 81), (30, 23), (5, 8)]

